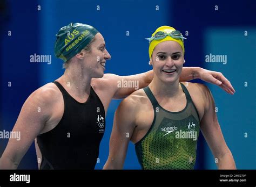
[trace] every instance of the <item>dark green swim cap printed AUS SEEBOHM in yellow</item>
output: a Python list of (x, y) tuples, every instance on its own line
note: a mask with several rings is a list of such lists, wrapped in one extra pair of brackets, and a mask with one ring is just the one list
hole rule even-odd
[(64, 62), (70, 60), (82, 51), (98, 32), (93, 26), (81, 23), (70, 23), (60, 28), (56, 34), (55, 56), (64, 60)]

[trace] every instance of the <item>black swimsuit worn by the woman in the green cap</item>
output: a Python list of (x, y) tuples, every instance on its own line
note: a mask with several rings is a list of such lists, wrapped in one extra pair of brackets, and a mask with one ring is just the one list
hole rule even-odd
[(37, 136), (42, 153), (40, 169), (94, 169), (105, 131), (105, 110), (91, 87), (89, 98), (79, 103), (58, 82), (64, 114), (51, 131)]

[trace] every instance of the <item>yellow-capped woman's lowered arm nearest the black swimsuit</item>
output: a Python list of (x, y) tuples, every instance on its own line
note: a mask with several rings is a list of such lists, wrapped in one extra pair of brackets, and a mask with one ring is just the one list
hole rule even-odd
[(136, 96), (125, 98), (116, 113), (109, 144), (109, 157), (103, 169), (123, 169), (129, 141), (135, 128)]

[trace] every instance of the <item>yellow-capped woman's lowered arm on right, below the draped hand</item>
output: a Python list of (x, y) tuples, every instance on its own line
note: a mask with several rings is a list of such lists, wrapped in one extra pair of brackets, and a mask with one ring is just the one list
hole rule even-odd
[(227, 147), (215, 113), (215, 103), (208, 88), (201, 84), (204, 99), (204, 116), (200, 129), (208, 146), (211, 148), (218, 169), (236, 169), (230, 149)]

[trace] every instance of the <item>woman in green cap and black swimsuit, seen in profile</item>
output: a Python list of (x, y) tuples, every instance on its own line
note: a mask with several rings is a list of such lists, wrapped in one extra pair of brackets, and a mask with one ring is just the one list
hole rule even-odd
[[(144, 88), (153, 79), (152, 70), (130, 76), (104, 74), (111, 56), (102, 34), (90, 25), (70, 23), (56, 36), (55, 55), (64, 62), (64, 74), (26, 99), (13, 129), (24, 138), (9, 140), (0, 169), (16, 169), (34, 140), (39, 169), (94, 169), (112, 98), (124, 98), (136, 90), (117, 83), (139, 81), (139, 88)], [(179, 76), (180, 81), (201, 78), (234, 92), (215, 71), (183, 68)], [(35, 112), (39, 106), (40, 112)]]

